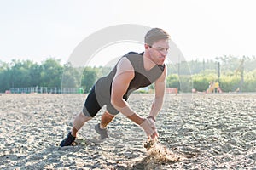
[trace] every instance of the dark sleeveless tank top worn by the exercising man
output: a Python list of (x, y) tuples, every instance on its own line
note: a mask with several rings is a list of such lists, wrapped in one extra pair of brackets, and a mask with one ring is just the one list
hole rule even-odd
[[(143, 63), (143, 53), (138, 54), (135, 52), (130, 52), (125, 54), (122, 58), (124, 57), (129, 59), (135, 72), (135, 76), (131, 80), (130, 85), (123, 97), (126, 100), (131, 92), (137, 90), (138, 88), (147, 87), (155, 82), (162, 75), (166, 65), (155, 65), (152, 69), (146, 71)], [(114, 66), (113, 70), (110, 71), (108, 76), (102, 77), (96, 82), (96, 95), (110, 99), (113, 77), (115, 76), (116, 70), (117, 65)]]

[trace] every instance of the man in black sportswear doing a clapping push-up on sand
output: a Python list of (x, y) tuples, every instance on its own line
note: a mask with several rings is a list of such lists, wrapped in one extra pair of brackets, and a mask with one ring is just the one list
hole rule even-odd
[[(71, 145), (85, 122), (96, 116), (103, 105), (107, 111), (102, 114), (96, 132), (102, 139), (108, 138), (107, 126), (119, 112), (143, 128), (148, 139), (157, 139), (155, 118), (163, 104), (166, 89), (166, 65), (170, 36), (160, 28), (153, 28), (144, 37), (144, 52), (125, 54), (107, 77), (100, 78), (88, 94), (83, 111), (73, 121), (73, 128), (61, 141), (61, 147)], [(132, 111), (126, 100), (131, 92), (147, 87), (154, 82), (154, 102), (147, 118)]]

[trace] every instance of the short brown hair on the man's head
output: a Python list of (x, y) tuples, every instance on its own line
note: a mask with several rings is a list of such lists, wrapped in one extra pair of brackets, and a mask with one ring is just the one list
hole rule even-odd
[(149, 46), (152, 46), (154, 42), (157, 42), (161, 39), (170, 39), (170, 35), (160, 28), (152, 28), (147, 32), (144, 37), (144, 42)]

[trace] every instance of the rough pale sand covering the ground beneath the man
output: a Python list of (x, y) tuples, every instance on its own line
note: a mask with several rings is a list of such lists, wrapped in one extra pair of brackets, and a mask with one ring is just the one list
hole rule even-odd
[[(0, 169), (256, 169), (256, 94), (173, 94), (157, 117), (159, 142), (119, 114), (100, 140), (94, 126), (59, 148), (86, 94), (2, 94)], [(129, 103), (147, 116), (153, 94)]]

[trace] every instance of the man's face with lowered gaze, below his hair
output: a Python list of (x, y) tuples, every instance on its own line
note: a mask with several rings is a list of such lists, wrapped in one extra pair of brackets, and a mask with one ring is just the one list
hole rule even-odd
[(164, 65), (168, 50), (169, 50), (168, 39), (162, 39), (162, 40), (159, 40), (158, 42), (154, 42), (152, 46), (148, 47), (148, 54), (150, 59), (156, 65)]

